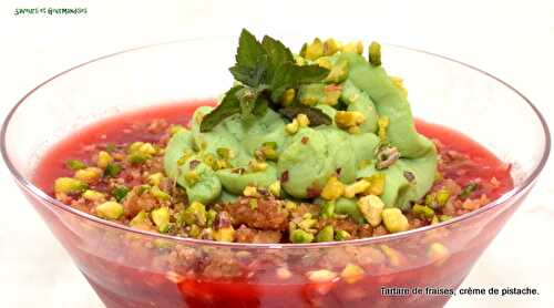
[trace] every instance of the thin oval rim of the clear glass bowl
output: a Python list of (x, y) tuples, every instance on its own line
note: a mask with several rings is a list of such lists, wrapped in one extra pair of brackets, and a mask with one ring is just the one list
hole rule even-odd
[(499, 82), (500, 84), (506, 86), (512, 92), (514, 92), (514, 94), (520, 96), (520, 99), (522, 99), (527, 104), (527, 106), (532, 109), (532, 111), (534, 112), (534, 114), (536, 115), (538, 121), (541, 122), (541, 125), (542, 125), (543, 132), (544, 132), (544, 140), (545, 140), (544, 152), (542, 154), (541, 161), (538, 162), (536, 167), (533, 170), (533, 172), (525, 177), (523, 183), (517, 185), (517, 186), (514, 186), (512, 189), (504, 193), (501, 197), (486, 204), (483, 207), (480, 207), (479, 209), (475, 209), (475, 211), (466, 213), (464, 215), (454, 217), (450, 220), (442, 222), (440, 224), (428, 225), (424, 227), (419, 227), (416, 229), (411, 229), (411, 230), (407, 230), (407, 232), (402, 232), (402, 233), (398, 233), (398, 234), (388, 234), (388, 235), (382, 235), (382, 236), (377, 236), (377, 237), (367, 237), (367, 238), (350, 239), (350, 240), (343, 240), (343, 242), (326, 242), (326, 243), (310, 243), (310, 244), (220, 243), (220, 242), (215, 242), (215, 240), (186, 238), (186, 237), (178, 237), (178, 236), (173, 236), (173, 235), (156, 234), (156, 233), (142, 230), (142, 229), (134, 229), (134, 228), (127, 227), (125, 225), (116, 224), (116, 223), (111, 222), (111, 220), (105, 220), (105, 219), (99, 218), (96, 216), (93, 216), (91, 214), (78, 211), (78, 209), (75, 209), (71, 206), (68, 206), (68, 205), (59, 202), (58, 199), (49, 196), (42, 189), (37, 187), (29, 179), (27, 179), (11, 162), (10, 156), (8, 155), (8, 145), (6, 143), (6, 135), (7, 135), (11, 119), (13, 117), (13, 115), (16, 114), (16, 112), (18, 111), (20, 105), (22, 105), (34, 92), (37, 92), (38, 90), (40, 90), (44, 85), (48, 85), (50, 82), (72, 72), (72, 71), (75, 71), (82, 66), (93, 64), (93, 63), (100, 62), (102, 60), (112, 59), (112, 58), (115, 58), (119, 55), (125, 55), (125, 54), (132, 53), (134, 51), (142, 51), (142, 50), (160, 48), (160, 47), (163, 48), (163, 47), (168, 47), (168, 45), (173, 45), (173, 44), (181, 44), (181, 43), (217, 40), (217, 39), (224, 39), (224, 38), (229, 39), (229, 37), (191, 38), (191, 39), (173, 40), (173, 41), (146, 44), (146, 45), (141, 45), (141, 47), (136, 47), (136, 48), (122, 50), (122, 51), (105, 54), (105, 55), (89, 60), (86, 62), (83, 62), (81, 64), (78, 64), (75, 66), (72, 66), (68, 70), (64, 70), (64, 71), (51, 76), (50, 79), (48, 79), (48, 80), (43, 81), (42, 83), (40, 83), (39, 85), (37, 85), (29, 93), (27, 93), (23, 97), (21, 97), (18, 101), (18, 103), (10, 110), (10, 112), (6, 116), (6, 120), (4, 120), (2, 127), (1, 127), (1, 131), (0, 131), (0, 151), (2, 153), (2, 157), (6, 162), (9, 171), (11, 172), (11, 175), (16, 178), (17, 184), (20, 185), (25, 192), (28, 192), (33, 197), (39, 198), (41, 201), (41, 203), (45, 203), (50, 206), (54, 206), (54, 207), (58, 207), (66, 213), (70, 213), (71, 215), (75, 215), (79, 219), (84, 218), (85, 220), (91, 220), (93, 223), (101, 224), (107, 228), (114, 228), (114, 229), (120, 230), (120, 232), (130, 232), (130, 233), (138, 234), (141, 236), (146, 236), (146, 237), (152, 237), (152, 238), (163, 238), (163, 239), (174, 240), (174, 242), (177, 242), (179, 244), (186, 244), (186, 245), (192, 245), (192, 246), (230, 247), (230, 248), (237, 248), (237, 249), (238, 248), (240, 248), (240, 249), (259, 249), (259, 248), (263, 248), (263, 249), (280, 249), (280, 248), (287, 248), (287, 249), (290, 249), (290, 248), (302, 248), (302, 249), (310, 248), (311, 249), (311, 248), (314, 248), (314, 249), (317, 249), (317, 248), (326, 248), (326, 247), (371, 245), (371, 244), (377, 244), (377, 243), (382, 243), (382, 242), (396, 240), (396, 239), (400, 239), (400, 238), (404, 238), (404, 237), (416, 236), (418, 234), (423, 234), (423, 233), (432, 230), (432, 229), (443, 228), (443, 227), (447, 227), (449, 225), (458, 224), (458, 223), (461, 223), (463, 220), (470, 219), (472, 217), (480, 216), (480, 215), (489, 212), (490, 209), (492, 209), (496, 206), (501, 206), (505, 202), (514, 199), (514, 198), (521, 196), (522, 194), (524, 194), (527, 191), (527, 188), (530, 188), (530, 186), (535, 182), (538, 174), (543, 171), (543, 168), (546, 164), (546, 161), (548, 160), (548, 154), (551, 151), (551, 135), (550, 135), (550, 131), (548, 131), (548, 125), (546, 124), (546, 120), (541, 114), (541, 112), (537, 110), (537, 107), (525, 95), (523, 95), (520, 91), (517, 91), (515, 88), (510, 85), (507, 82), (505, 82), (505, 81), (503, 81), (503, 80), (494, 76), (493, 74), (488, 73), (481, 69), (478, 69), (473, 65), (466, 64), (464, 62), (454, 60), (454, 59), (449, 58), (449, 57), (444, 57), (444, 55), (441, 55), (438, 53), (433, 53), (433, 52), (429, 52), (429, 51), (424, 51), (424, 50), (420, 50), (420, 49), (413, 49), (413, 48), (409, 48), (409, 47), (404, 47), (404, 45), (399, 45), (399, 44), (383, 44), (384, 47), (399, 49), (402, 51), (414, 52), (414, 53), (429, 55), (432, 58), (438, 58), (439, 60), (451, 62), (451, 63), (458, 64), (460, 66), (463, 66), (465, 69), (472, 70), (474, 72), (481, 73), (481, 74)]

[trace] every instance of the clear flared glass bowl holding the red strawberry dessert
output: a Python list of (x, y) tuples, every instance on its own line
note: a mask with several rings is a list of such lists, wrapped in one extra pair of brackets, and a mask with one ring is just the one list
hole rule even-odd
[[(40, 84), (8, 115), (1, 151), (9, 170), (103, 302), (229, 308), (444, 305), (448, 296), (382, 296), (381, 288), (458, 287), (532, 188), (547, 158), (550, 135), (544, 119), (516, 90), (440, 55), (391, 45), (382, 50), (387, 70), (404, 79), (418, 117), (485, 145), (513, 164), (515, 181), (500, 199), (447, 223), (341, 243), (220, 244), (130, 229), (64, 206), (33, 185), (38, 158), (75, 129), (120, 112), (225, 91), (232, 83), (227, 68), (234, 63), (235, 47), (236, 39), (201, 39), (103, 57)], [(448, 247), (448, 254), (429, 255), (433, 243)], [(360, 279), (306, 278), (320, 269), (340, 273), (349, 263), (365, 269)]]

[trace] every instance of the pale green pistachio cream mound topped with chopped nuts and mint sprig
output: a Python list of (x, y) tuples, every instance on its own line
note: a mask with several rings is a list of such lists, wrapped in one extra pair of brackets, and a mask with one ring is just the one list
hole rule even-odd
[(430, 191), (437, 150), (416, 131), (378, 43), (365, 55), (361, 43), (316, 39), (293, 54), (243, 30), (236, 59), (235, 86), (215, 109), (198, 107), (165, 151), (164, 168), (191, 203), (228, 202), (256, 187), (321, 206), (336, 201), (357, 219), (365, 196), (406, 209)]

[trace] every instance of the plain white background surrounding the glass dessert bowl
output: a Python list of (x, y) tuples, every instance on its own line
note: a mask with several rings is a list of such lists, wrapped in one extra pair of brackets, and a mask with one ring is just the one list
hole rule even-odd
[[(85, 7), (75, 17), (16, 8)], [(348, 33), (424, 49), (507, 81), (554, 120), (554, 1), (6, 1), (0, 2), (0, 115), (54, 73), (153, 42), (214, 34)], [(507, 125), (511, 123), (501, 123)], [(33, 127), (35, 129), (35, 127)], [(514, 144), (514, 146), (517, 146)], [(534, 287), (536, 297), (455, 297), (448, 307), (554, 307), (552, 164), (464, 281)], [(102, 307), (0, 166), (0, 307)]]

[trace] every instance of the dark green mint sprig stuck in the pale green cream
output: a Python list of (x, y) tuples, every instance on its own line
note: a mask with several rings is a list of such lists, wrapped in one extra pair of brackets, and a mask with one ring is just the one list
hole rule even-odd
[[(236, 63), (229, 71), (242, 84), (227, 91), (222, 103), (204, 116), (202, 132), (211, 131), (223, 120), (237, 113), (243, 117), (260, 115), (268, 106), (279, 111), (281, 107), (278, 102), (285, 91), (320, 82), (329, 74), (329, 70), (319, 65), (297, 65), (290, 50), (280, 41), (265, 35), (259, 42), (246, 29), (240, 32), (235, 60)], [(302, 107), (310, 109), (314, 107)], [(310, 119), (311, 126), (332, 122), (318, 111), (307, 112), (308, 117), (317, 114)]]

